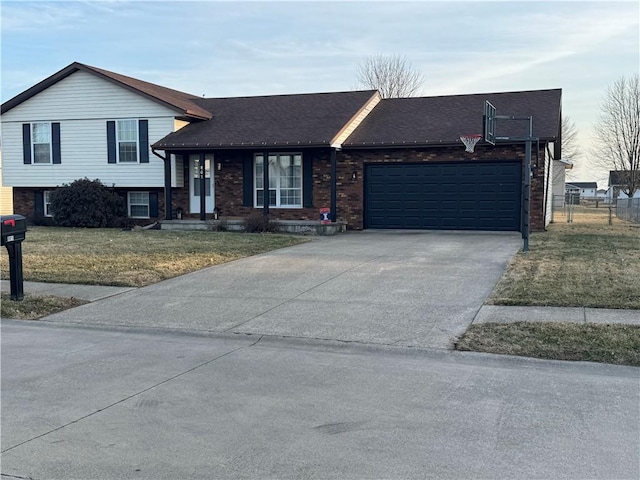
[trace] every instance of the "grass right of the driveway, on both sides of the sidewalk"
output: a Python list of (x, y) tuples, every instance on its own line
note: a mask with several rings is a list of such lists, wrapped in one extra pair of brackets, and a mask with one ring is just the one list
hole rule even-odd
[[(531, 235), (487, 299), (493, 305), (640, 309), (640, 225), (576, 206)], [(562, 320), (562, 319), (558, 319)], [(457, 350), (640, 366), (640, 327), (547, 322), (471, 325)]]

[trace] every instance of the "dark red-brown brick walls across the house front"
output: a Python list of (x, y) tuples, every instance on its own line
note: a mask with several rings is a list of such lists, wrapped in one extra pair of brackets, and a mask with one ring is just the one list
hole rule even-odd
[[(222, 151), (214, 159), (215, 205), (223, 217), (247, 217), (260, 212), (261, 208), (246, 207), (243, 204), (243, 158), (251, 155), (242, 151)], [(278, 220), (318, 220), (319, 209), (331, 204), (331, 160), (328, 149), (309, 149), (305, 157), (313, 162), (313, 207), (273, 208), (271, 217)], [(337, 153), (337, 220), (346, 222), (349, 229), (361, 230), (364, 222), (364, 166), (370, 163), (435, 163), (473, 161), (514, 161), (522, 162), (524, 168), (524, 145), (476, 146), (475, 152), (464, 152), (461, 147), (397, 148), (343, 150)], [(545, 148), (540, 146), (536, 159), (536, 145), (532, 154), (534, 177), (531, 182), (531, 230), (544, 230), (544, 166)], [(218, 170), (218, 164), (221, 169)], [(537, 165), (537, 168), (535, 168)], [(177, 208), (182, 208), (184, 217), (199, 218), (199, 212), (189, 211), (190, 178), (185, 167), (185, 185), (172, 188), (172, 209), (175, 218)], [(354, 179), (355, 175), (355, 179)], [(38, 190), (48, 190), (40, 188)], [(144, 190), (144, 189), (139, 189)], [(160, 218), (164, 218), (164, 192), (158, 192)], [(30, 217), (34, 212), (34, 189), (14, 188), (14, 209), (21, 215)], [(207, 218), (213, 217), (208, 212)], [(136, 221), (137, 222), (137, 221)], [(147, 220), (142, 221), (142, 223)], [(139, 223), (139, 222), (137, 222)]]

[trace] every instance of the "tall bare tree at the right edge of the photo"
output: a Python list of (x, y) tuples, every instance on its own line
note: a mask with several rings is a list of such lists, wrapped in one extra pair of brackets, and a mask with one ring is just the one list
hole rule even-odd
[(621, 77), (607, 89), (594, 128), (598, 163), (616, 170), (629, 198), (640, 190), (640, 76)]

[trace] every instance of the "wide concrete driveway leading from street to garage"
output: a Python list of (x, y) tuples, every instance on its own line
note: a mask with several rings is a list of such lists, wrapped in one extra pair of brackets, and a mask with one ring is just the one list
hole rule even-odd
[(449, 348), (520, 245), (515, 233), (317, 237), (45, 320)]

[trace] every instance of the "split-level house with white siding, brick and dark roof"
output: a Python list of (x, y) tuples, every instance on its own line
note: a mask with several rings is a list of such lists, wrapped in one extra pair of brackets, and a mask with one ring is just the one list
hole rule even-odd
[[(381, 99), (375, 90), (202, 98), (73, 63), (2, 104), (2, 175), (15, 213), (99, 179), (134, 221), (319, 220), (349, 229), (519, 231), (528, 122), (482, 133), (485, 101), (531, 116), (532, 230), (551, 218), (561, 90)], [(564, 166), (561, 168), (564, 169)]]

